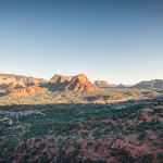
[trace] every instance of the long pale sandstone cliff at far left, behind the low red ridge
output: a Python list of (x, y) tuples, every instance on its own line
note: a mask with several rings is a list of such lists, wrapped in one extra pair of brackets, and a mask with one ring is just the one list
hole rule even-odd
[(18, 89), (33, 85), (40, 86), (46, 83), (46, 79), (25, 77), (21, 75), (0, 74), (0, 89)]

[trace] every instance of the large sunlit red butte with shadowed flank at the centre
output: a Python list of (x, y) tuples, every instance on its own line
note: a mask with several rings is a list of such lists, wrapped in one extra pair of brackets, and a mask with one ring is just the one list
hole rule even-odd
[(72, 91), (91, 91), (96, 86), (89, 82), (86, 75), (62, 76), (54, 75), (50, 79), (50, 86), (54, 90), (72, 90)]

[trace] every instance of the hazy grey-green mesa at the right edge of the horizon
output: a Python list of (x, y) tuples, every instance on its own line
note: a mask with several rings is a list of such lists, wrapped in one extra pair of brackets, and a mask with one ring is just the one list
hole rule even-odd
[(140, 88), (140, 89), (162, 89), (163, 88), (163, 79), (153, 79), (149, 82), (140, 82), (133, 86), (133, 88)]

